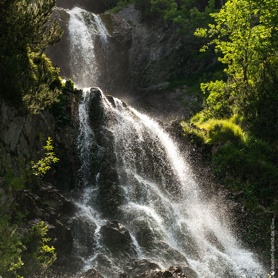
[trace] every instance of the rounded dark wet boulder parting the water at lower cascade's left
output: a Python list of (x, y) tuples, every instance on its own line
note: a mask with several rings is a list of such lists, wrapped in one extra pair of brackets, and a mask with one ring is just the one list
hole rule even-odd
[(103, 242), (109, 247), (120, 249), (131, 244), (128, 230), (119, 221), (108, 222), (100, 228)]

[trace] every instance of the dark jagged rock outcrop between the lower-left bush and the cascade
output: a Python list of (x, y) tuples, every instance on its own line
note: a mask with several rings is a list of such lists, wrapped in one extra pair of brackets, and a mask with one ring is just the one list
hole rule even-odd
[[(52, 198), (54, 192), (54, 198)], [(49, 245), (55, 248), (55, 252), (59, 256), (70, 254), (73, 248), (73, 236), (66, 224), (70, 219), (70, 211), (74, 210), (74, 204), (49, 183), (43, 184), (42, 190), (39, 189), (37, 193), (38, 196), (26, 190), (22, 193), (18, 192), (16, 208), (23, 214), (27, 212), (26, 219), (29, 223), (19, 226), (19, 235), (23, 234), (24, 230), (43, 221), (44, 226), (47, 225), (47, 237), (51, 238)], [(62, 212), (63, 205), (71, 209)], [(14, 211), (11, 212), (12, 217), (15, 216), (14, 214)]]

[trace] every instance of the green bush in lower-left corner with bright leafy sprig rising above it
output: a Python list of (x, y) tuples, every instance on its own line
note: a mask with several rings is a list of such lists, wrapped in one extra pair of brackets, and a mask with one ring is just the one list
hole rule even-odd
[[(38, 222), (31, 229), (25, 229), (23, 235), (18, 234), (18, 224), (27, 225), (22, 213), (17, 212), (16, 200), (23, 190), (31, 189), (30, 184), (34, 177), (41, 177), (49, 168), (50, 163), (57, 162), (52, 152), (51, 138), (48, 137), (45, 157), (38, 163), (31, 162), (31, 165), (24, 168), (19, 175), (4, 163), (2, 191), (0, 192), (0, 276), (3, 278), (19, 278), (25, 276), (32, 270), (43, 271), (49, 268), (56, 254), (53, 246), (47, 245), (50, 238), (46, 238), (47, 225)], [(24, 163), (22, 163), (23, 165)], [(10, 210), (15, 212), (13, 219), (8, 216)], [(28, 212), (27, 212), (28, 213)]]

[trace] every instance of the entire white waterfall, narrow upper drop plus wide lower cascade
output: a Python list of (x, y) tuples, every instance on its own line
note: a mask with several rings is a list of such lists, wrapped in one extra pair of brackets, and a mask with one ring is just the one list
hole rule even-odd
[[(95, 62), (94, 51), (100, 40), (105, 55), (107, 30), (99, 15), (79, 8), (69, 13), (71, 65), (76, 69), (78, 85), (96, 86), (101, 65)], [(93, 29), (98, 30), (97, 36)], [(125, 262), (145, 260), (161, 269), (178, 265), (189, 278), (196, 274), (200, 278), (267, 277), (258, 256), (241, 247), (217, 206), (204, 201), (177, 142), (165, 128), (121, 100), (101, 93), (102, 128), (112, 134), (123, 199), (117, 214), (110, 218), (124, 225), (130, 238), (123, 250), (115, 252), (107, 246), (101, 230), (109, 219), (97, 205), (99, 177), (105, 173), (91, 171), (95, 156), (102, 157), (104, 152), (90, 126), (94, 94), (94, 88), (83, 89), (78, 115), (81, 190), (72, 222), (76, 225), (74, 251), (82, 261), (82, 270), (94, 268), (110, 278), (128, 272)]]

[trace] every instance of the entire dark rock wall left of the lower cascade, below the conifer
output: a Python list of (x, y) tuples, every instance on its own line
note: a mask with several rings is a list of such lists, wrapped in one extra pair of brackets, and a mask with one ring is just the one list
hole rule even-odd
[[(26, 164), (44, 158), (43, 146), (48, 137), (53, 139), (54, 153), (60, 158), (57, 166), (47, 171), (42, 182), (32, 182), (30, 186), (34, 194), (16, 189), (13, 193), (16, 209), (23, 215), (27, 213), (26, 220), (30, 222), (19, 226), (19, 235), (44, 221), (44, 225), (48, 226), (47, 236), (51, 238), (49, 244), (58, 254), (59, 259), (55, 262), (57, 264), (68, 259), (73, 248), (73, 236), (68, 221), (75, 207), (65, 193), (55, 186), (59, 185), (60, 189), (69, 188), (69, 184), (65, 186), (65, 183), (74, 176), (75, 96), (70, 92), (65, 93), (64, 107), (55, 114), (54, 118), (46, 111), (33, 114), (26, 110), (17, 110), (0, 99), (0, 156), (3, 158), (0, 159), (0, 173), (4, 171), (3, 167), (8, 166), (15, 175), (20, 175), (22, 167), (27, 167)], [(60, 117), (65, 117), (66, 126), (62, 120), (59, 122)], [(16, 216), (14, 210), (9, 213), (11, 217)]]

